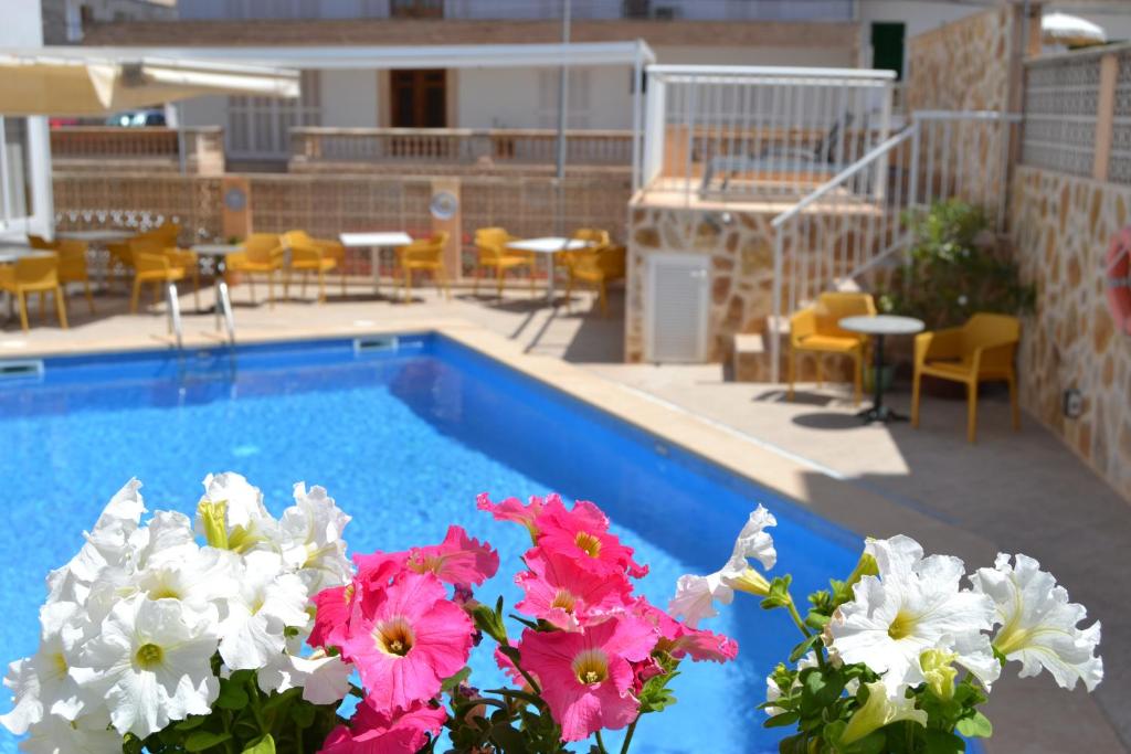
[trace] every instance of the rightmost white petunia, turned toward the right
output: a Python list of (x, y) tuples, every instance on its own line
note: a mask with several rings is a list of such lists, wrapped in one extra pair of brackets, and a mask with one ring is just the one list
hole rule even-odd
[(999, 554), (992, 569), (970, 577), (974, 590), (988, 595), (996, 605), (1001, 625), (993, 645), (1008, 659), (1021, 661), (1022, 678), (1045, 668), (1064, 688), (1077, 679), (1091, 691), (1104, 678), (1104, 662), (1095, 655), (1099, 622), (1077, 625), (1087, 617), (1082, 605), (1068, 601), (1068, 591), (1027, 555)]

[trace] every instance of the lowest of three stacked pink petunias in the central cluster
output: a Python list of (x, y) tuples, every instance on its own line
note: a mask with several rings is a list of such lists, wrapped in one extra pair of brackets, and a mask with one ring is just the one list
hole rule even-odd
[(637, 718), (630, 664), (647, 659), (657, 639), (653, 626), (622, 616), (577, 633), (527, 629), (519, 652), (523, 667), (538, 678), (562, 739), (570, 742)]

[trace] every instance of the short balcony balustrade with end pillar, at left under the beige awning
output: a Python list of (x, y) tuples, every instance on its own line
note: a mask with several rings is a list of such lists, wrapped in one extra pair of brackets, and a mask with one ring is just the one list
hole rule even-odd
[(118, 128), (68, 125), (51, 130), (51, 156), (55, 167), (103, 170), (118, 167), (176, 171), (181, 166), (183, 138), (184, 170), (200, 175), (224, 172), (224, 132), (219, 127)]

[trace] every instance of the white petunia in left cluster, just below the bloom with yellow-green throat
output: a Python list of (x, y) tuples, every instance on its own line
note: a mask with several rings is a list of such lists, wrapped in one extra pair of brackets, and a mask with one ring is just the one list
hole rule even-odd
[(287, 626), (302, 627), (310, 621), (309, 593), (302, 580), (283, 573), (275, 553), (244, 556), (235, 595), (219, 626), (219, 655), (231, 670), (262, 667), (285, 648)]

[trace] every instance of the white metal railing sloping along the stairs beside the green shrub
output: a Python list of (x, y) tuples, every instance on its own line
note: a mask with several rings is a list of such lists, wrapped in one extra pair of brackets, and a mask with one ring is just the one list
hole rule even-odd
[[(770, 340), (778, 381), (779, 318), (909, 250), (909, 214), (951, 198), (1004, 218), (1016, 114), (916, 112), (910, 123), (775, 217)], [(878, 184), (873, 184), (875, 181)]]

